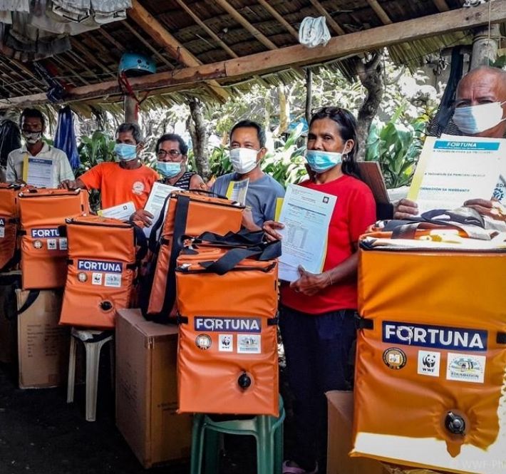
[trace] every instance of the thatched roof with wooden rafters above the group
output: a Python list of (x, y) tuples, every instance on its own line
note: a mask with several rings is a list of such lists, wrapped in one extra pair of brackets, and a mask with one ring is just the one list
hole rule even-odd
[[(195, 68), (199, 64), (221, 65), (223, 61), (234, 58), (247, 61), (249, 58), (256, 57), (252, 56), (254, 54), (297, 45), (299, 43), (296, 31), (306, 16), (321, 16), (324, 13), (332, 36), (348, 36), (348, 34), (371, 29), (371, 38), (373, 38), (376, 29), (384, 25), (395, 25), (445, 11), (462, 11), (464, 1), (133, 0), (134, 8), (129, 11), (127, 20), (117, 21), (102, 26), (100, 29), (73, 36), (71, 51), (46, 58), (41, 62), (54, 71), (56, 77), (63, 79), (69, 89), (84, 90), (84, 86), (115, 81), (118, 61), (125, 51), (144, 51), (153, 56), (156, 61), (157, 73), (175, 75), (184, 68), (192, 66)], [(504, 0), (491, 0), (492, 6), (502, 1)], [(480, 6), (465, 10), (472, 16), (473, 10), (480, 9), (480, 14), (482, 14), (486, 12), (485, 8), (486, 6)], [(143, 16), (141, 21), (139, 15)], [(167, 46), (163, 38), (160, 41), (160, 37), (154, 35), (152, 29), (146, 28), (146, 22), (151, 21), (149, 15), (153, 16), (155, 28), (161, 26), (169, 34), (170, 41), (173, 41), (172, 46)], [(504, 16), (506, 17), (506, 13)], [(433, 22), (434, 18), (428, 19), (428, 23)], [(443, 21), (443, 17), (441, 18)], [(486, 23), (486, 19), (481, 23)], [(451, 32), (447, 34), (428, 37), (426, 34), (420, 34), (420, 39), (390, 44), (388, 46), (390, 56), (396, 63), (417, 66), (429, 53), (435, 53), (442, 48), (459, 43), (471, 42), (472, 31), (455, 31), (455, 28), (449, 31)], [(9, 57), (14, 56), (14, 53), (11, 54), (8, 48), (4, 48), (3, 51), (4, 56), (0, 56), (0, 94), (4, 100), (0, 101), (0, 104), (5, 108), (9, 103), (14, 103), (16, 106), (24, 106), (31, 101), (36, 103), (36, 95), (38, 94), (40, 99), (41, 94), (46, 93), (48, 88), (46, 83), (37, 75), (31, 63), (22, 63)], [(184, 55), (180, 55), (181, 51), (195, 58), (195, 63), (185, 61)], [(157, 102), (170, 105), (184, 100), (189, 94), (213, 99), (217, 97), (215, 92), (218, 86), (223, 86), (224, 90), (229, 92), (233, 91), (234, 84), (244, 85), (247, 81), (276, 84), (279, 81), (289, 81), (294, 76), (301, 76), (304, 73), (301, 67), (321, 67), (321, 64), (339, 69), (348, 78), (353, 78), (354, 70), (346, 58), (339, 55), (331, 56), (316, 63), (311, 61), (311, 58), (307, 58), (296, 67), (282, 65), (276, 68), (271, 64), (266, 71), (259, 68), (258, 73), (244, 76), (237, 74), (229, 76), (226, 72), (217, 73), (212, 82), (191, 78), (182, 83), (169, 82), (167, 87), (163, 87), (162, 83), (157, 83), (153, 86), (153, 91), (146, 103)], [(227, 71), (225, 66), (223, 70)], [(138, 89), (143, 88), (139, 86)], [(118, 102), (120, 100), (119, 90), (114, 91), (109, 87), (107, 91), (107, 98), (93, 97), (90, 93), (86, 96), (83, 93), (80, 105), (75, 104), (75, 106), (78, 108), (100, 107), (100, 103), (104, 101)], [(14, 100), (22, 96), (29, 96), (29, 98), (27, 101)], [(226, 93), (220, 93), (218, 96), (226, 96)], [(39, 100), (38, 103), (40, 102)]]

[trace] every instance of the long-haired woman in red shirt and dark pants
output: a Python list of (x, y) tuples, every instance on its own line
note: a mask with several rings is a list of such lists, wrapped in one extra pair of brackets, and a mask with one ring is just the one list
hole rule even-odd
[[(289, 384), (294, 394), (296, 446), (283, 473), (326, 472), (326, 398), (348, 390), (356, 338), (358, 236), (376, 220), (371, 190), (358, 179), (356, 120), (348, 110), (327, 107), (311, 117), (306, 160), (311, 179), (300, 185), (337, 197), (327, 235), (323, 272), (299, 267), (300, 277), (282, 284), (279, 325)], [(281, 238), (279, 222), (264, 224)]]

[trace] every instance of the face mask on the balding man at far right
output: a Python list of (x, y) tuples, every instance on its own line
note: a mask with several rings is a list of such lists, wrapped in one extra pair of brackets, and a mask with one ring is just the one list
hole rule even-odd
[(453, 121), (465, 135), (485, 132), (485, 130), (490, 130), (506, 120), (506, 118), (502, 118), (501, 105), (503, 103), (492, 102), (455, 108)]

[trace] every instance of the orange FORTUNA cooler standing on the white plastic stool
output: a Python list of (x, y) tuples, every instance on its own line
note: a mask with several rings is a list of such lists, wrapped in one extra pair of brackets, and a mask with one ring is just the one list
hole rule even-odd
[(113, 328), (116, 311), (128, 308), (132, 297), (134, 227), (98, 216), (66, 222), (68, 273), (60, 324)]

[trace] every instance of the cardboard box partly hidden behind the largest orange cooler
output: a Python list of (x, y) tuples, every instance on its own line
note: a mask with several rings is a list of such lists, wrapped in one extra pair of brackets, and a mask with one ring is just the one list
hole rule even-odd
[(327, 474), (387, 474), (383, 465), (369, 458), (350, 458), (353, 426), (353, 392), (326, 393), (329, 409)]

